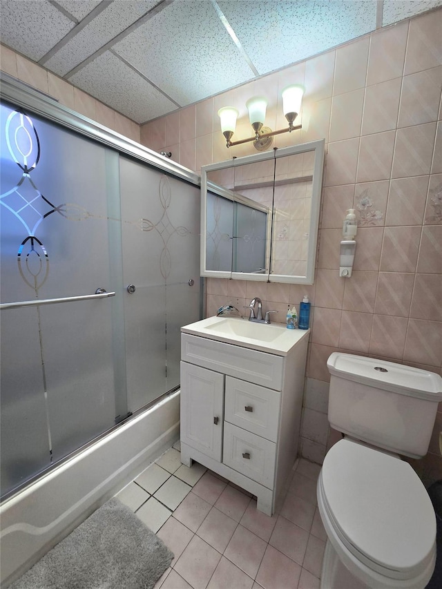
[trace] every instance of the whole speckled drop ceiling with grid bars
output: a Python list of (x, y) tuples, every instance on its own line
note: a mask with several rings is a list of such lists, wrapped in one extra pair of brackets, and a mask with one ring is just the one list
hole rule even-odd
[(0, 33), (6, 46), (142, 124), (441, 5), (1, 0)]

